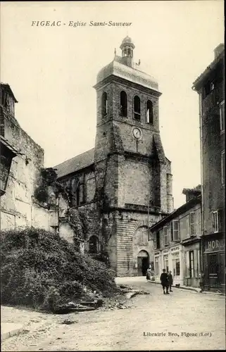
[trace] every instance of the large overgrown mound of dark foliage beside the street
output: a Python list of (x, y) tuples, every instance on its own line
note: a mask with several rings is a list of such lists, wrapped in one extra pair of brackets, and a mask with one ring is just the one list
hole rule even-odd
[(1, 232), (1, 303), (54, 310), (89, 291), (117, 290), (105, 263), (75, 251), (58, 234), (28, 228)]

